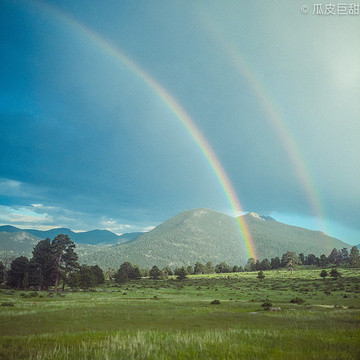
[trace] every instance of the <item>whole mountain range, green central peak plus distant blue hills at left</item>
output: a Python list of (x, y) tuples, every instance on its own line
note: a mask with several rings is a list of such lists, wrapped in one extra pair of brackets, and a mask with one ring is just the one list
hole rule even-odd
[[(259, 260), (281, 257), (287, 251), (328, 256), (333, 248), (351, 248), (349, 244), (320, 231), (286, 225), (267, 216), (249, 213), (244, 215), (244, 220)], [(198, 261), (203, 264), (211, 261), (214, 265), (223, 261), (229, 265), (244, 265), (249, 258), (238, 221), (210, 209), (184, 211), (147, 233), (121, 236), (106, 230), (75, 233), (59, 228), (25, 232), (11, 226), (2, 226), (0, 255), (1, 251), (11, 251), (16, 256), (26, 253), (25, 256), (30, 256), (40, 239), (52, 239), (59, 233), (69, 235), (77, 244), (76, 251), (81, 263), (98, 264), (103, 269), (118, 269), (125, 261), (143, 268), (154, 265), (174, 268), (194, 265)]]

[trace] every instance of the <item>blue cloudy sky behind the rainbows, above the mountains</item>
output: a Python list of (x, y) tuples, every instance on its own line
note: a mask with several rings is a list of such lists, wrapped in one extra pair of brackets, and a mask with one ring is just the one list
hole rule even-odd
[(0, 223), (123, 233), (234, 215), (169, 106), (82, 28), (176, 99), (245, 212), (360, 243), (360, 15), (313, 6), (2, 0)]

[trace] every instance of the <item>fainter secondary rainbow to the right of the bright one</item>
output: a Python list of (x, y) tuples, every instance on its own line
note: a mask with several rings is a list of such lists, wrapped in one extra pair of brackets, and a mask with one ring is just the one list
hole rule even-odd
[(212, 35), (218, 46), (224, 50), (230, 63), (254, 91), (257, 100), (267, 115), (267, 120), (278, 135), (294, 171), (302, 184), (312, 213), (318, 221), (319, 228), (326, 229), (326, 216), (319, 195), (320, 190), (317, 188), (310, 170), (306, 166), (305, 158), (297, 145), (294, 135), (287, 126), (284, 117), (281, 115), (280, 109), (275, 101), (271, 99), (265, 84), (261, 81), (255, 69), (249, 64), (249, 61), (246, 61), (236, 45), (230, 41), (229, 36), (223, 32), (216, 22), (209, 19), (205, 13), (203, 16), (203, 26), (207, 29), (209, 34)]

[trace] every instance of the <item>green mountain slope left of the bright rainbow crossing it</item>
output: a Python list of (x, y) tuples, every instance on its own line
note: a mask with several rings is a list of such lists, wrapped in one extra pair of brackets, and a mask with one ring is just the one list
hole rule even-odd
[(176, 267), (196, 261), (241, 264), (246, 260), (243, 253), (234, 218), (196, 209), (182, 212), (133, 241), (88, 253), (81, 260), (114, 268), (125, 261), (141, 267)]

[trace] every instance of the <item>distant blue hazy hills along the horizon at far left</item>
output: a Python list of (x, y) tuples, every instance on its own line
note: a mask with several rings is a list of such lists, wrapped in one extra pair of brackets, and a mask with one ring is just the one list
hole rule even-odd
[(14, 233), (18, 231), (23, 231), (28, 234), (34, 235), (40, 239), (50, 238), (51, 240), (59, 234), (65, 234), (70, 237), (72, 241), (76, 244), (82, 245), (99, 245), (99, 244), (121, 244), (129, 240), (133, 240), (136, 237), (140, 236), (143, 233), (127, 233), (121, 236), (114, 234), (108, 230), (91, 230), (85, 232), (74, 232), (67, 228), (55, 228), (51, 230), (34, 230), (34, 229), (19, 229), (14, 226), (4, 225), (0, 226), (1, 232)]

